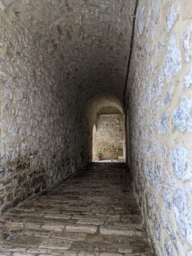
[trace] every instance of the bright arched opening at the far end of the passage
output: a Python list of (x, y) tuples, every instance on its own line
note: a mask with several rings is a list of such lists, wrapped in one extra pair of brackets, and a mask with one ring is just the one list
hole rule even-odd
[[(125, 118), (116, 108), (103, 108), (93, 125), (92, 161), (125, 162)], [(97, 154), (101, 154), (101, 161)]]

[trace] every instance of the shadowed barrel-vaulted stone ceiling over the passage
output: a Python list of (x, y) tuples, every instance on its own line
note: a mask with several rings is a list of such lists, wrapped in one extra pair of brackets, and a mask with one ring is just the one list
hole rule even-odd
[[(10, 20), (28, 35), (28, 51), (86, 102), (111, 93), (122, 100), (135, 0), (3, 0)], [(26, 36), (24, 36), (26, 38)], [(20, 38), (22, 40), (22, 38)], [(22, 52), (22, 49), (21, 49)]]

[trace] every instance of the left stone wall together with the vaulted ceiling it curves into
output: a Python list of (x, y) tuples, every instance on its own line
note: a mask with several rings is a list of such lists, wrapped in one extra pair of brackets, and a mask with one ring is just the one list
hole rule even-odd
[(122, 100), (133, 3), (0, 0), (2, 212), (92, 161), (86, 103)]

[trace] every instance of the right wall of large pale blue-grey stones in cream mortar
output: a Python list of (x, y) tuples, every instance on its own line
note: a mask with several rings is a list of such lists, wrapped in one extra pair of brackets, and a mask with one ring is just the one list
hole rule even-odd
[(161, 256), (192, 255), (191, 4), (138, 1), (127, 84), (132, 177)]

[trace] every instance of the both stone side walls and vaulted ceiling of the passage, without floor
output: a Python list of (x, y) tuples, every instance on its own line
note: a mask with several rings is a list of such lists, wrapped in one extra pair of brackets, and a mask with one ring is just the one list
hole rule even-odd
[(0, 0), (4, 216), (90, 163), (98, 113), (116, 108), (156, 254), (191, 256), (191, 5)]

